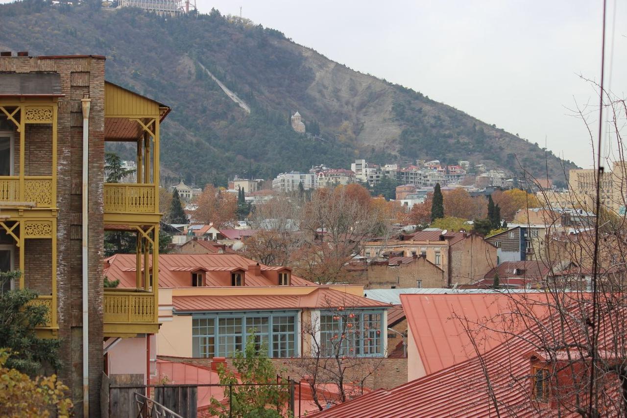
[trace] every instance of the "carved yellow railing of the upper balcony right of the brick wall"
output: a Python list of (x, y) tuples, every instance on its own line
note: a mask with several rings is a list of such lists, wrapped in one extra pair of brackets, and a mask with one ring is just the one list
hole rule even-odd
[(155, 185), (105, 183), (105, 212), (158, 213)]

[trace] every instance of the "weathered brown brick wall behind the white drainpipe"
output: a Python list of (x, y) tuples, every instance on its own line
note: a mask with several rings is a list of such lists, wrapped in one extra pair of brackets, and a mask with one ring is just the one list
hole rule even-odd
[[(89, 151), (89, 378), (90, 416), (100, 415), (100, 382), (102, 376), (102, 262), (103, 262), (103, 160), (104, 160), (104, 65), (102, 58), (1, 57), (1, 72), (55, 72), (60, 75), (58, 99), (58, 147), (56, 167), (57, 202), (57, 300), (58, 338), (62, 348), (62, 367), (58, 375), (70, 387), (76, 416), (82, 416), (82, 252), (80, 240), (82, 181), (82, 115), (80, 99), (92, 99)], [(80, 73), (80, 75), (76, 75)], [(26, 174), (50, 175), (50, 126), (28, 126), (26, 129)], [(47, 142), (48, 141), (48, 142)], [(16, 137), (19, 156), (19, 136)], [(48, 164), (46, 164), (46, 162)], [(15, 170), (19, 170), (16, 164)], [(78, 222), (77, 222), (78, 220)], [(78, 223), (78, 225), (76, 225)], [(71, 230), (78, 227), (78, 233)], [(75, 231), (76, 232), (76, 231)], [(45, 242), (27, 240), (26, 273), (33, 274), (34, 286), (43, 288), (43, 276), (34, 271), (48, 262)], [(50, 281), (50, 264), (44, 271)], [(49, 285), (50, 286), (50, 285)]]

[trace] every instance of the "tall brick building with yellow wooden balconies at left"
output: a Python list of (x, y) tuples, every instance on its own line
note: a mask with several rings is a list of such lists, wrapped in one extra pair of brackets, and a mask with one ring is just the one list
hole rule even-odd
[[(0, 56), (1, 268), (19, 269), (10, 286), (37, 291), (49, 309), (38, 335), (62, 341), (58, 375), (75, 414), (90, 417), (100, 416), (103, 371), (149, 380), (159, 131), (170, 110), (104, 77), (103, 56)], [(136, 144), (137, 183), (105, 183), (105, 141)], [(105, 230), (137, 240), (124, 289), (103, 288)]]

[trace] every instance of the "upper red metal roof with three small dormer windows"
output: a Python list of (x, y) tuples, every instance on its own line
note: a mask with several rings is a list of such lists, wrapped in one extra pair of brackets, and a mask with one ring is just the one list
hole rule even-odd
[[(135, 254), (115, 254), (105, 259), (105, 275), (119, 280), (120, 287), (135, 287)], [(206, 286), (231, 286), (229, 272), (245, 271), (245, 286), (275, 286), (277, 271), (260, 265), (260, 274), (249, 271), (254, 260), (239, 254), (159, 254), (159, 287), (191, 286), (190, 268), (206, 271)], [(289, 270), (286, 267), (287, 270)], [(253, 269), (254, 270), (254, 269)], [(317, 286), (315, 283), (292, 275), (293, 286)]]

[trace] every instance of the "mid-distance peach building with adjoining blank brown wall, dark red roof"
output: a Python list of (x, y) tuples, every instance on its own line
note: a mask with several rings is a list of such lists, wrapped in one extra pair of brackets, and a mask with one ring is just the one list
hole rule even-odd
[(422, 255), (445, 272), (445, 284), (474, 283), (497, 265), (497, 248), (477, 234), (445, 232), (428, 228), (397, 240), (364, 244), (363, 256), (381, 259), (384, 255)]

